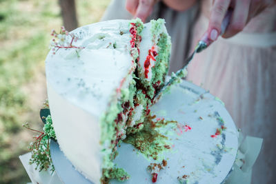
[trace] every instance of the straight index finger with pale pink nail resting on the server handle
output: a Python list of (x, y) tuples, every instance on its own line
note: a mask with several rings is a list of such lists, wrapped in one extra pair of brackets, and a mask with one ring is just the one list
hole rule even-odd
[(220, 34), (221, 22), (224, 19), (226, 11), (230, 5), (230, 0), (214, 1), (213, 8), (210, 14), (208, 25), (208, 38), (215, 41)]

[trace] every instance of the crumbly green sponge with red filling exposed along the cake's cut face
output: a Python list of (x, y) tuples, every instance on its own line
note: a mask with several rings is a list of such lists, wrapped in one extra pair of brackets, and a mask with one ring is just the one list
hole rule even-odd
[[(119, 181), (124, 181), (129, 178), (124, 169), (116, 168), (112, 162), (117, 156), (117, 144), (120, 140), (126, 139), (126, 136), (133, 137), (135, 133), (143, 130), (141, 135), (146, 134), (144, 129), (144, 119), (150, 113), (149, 105), (152, 104), (152, 98), (164, 85), (164, 79), (168, 72), (168, 58), (170, 55), (170, 37), (165, 34), (164, 20), (158, 19), (151, 21), (152, 29), (151, 37), (159, 39), (157, 47), (157, 57), (155, 68), (152, 68), (152, 80), (146, 83), (141, 74), (141, 65), (139, 65), (140, 42), (143, 38), (141, 32), (144, 29), (144, 23), (140, 19), (130, 21), (130, 54), (132, 56), (132, 68), (126, 79), (123, 79), (121, 86), (117, 89), (115, 96), (110, 101), (110, 107), (101, 118), (101, 144), (105, 147), (101, 150), (103, 154), (103, 177), (101, 183), (108, 183), (111, 178), (117, 178)], [(135, 113), (138, 112), (138, 107), (142, 112), (139, 114), (139, 119), (135, 119)], [(128, 139), (130, 140), (130, 139)], [(156, 150), (155, 150), (156, 151)], [(155, 152), (157, 153), (157, 152)]]

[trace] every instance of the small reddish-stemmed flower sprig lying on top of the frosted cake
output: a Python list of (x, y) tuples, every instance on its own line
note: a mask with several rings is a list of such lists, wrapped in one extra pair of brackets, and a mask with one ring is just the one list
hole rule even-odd
[(63, 26), (61, 27), (59, 33), (52, 30), (51, 36), (54, 37), (50, 43), (52, 54), (56, 54), (61, 48), (75, 48), (79, 50), (84, 48), (73, 45), (73, 43), (77, 41), (78, 37), (75, 34), (68, 32)]

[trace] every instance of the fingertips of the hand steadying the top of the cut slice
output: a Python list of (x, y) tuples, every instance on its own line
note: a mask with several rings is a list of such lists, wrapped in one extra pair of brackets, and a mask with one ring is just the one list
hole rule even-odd
[(157, 0), (126, 0), (126, 10), (145, 22)]

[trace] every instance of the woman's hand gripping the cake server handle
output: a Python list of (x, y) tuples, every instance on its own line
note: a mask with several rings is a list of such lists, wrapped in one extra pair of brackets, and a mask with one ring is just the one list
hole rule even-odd
[(273, 3), (275, 0), (213, 0), (207, 31), (208, 38), (215, 41), (219, 37), (221, 22), (228, 8), (233, 9), (233, 14), (226, 32), (222, 35), (224, 38), (233, 37), (241, 32), (250, 19)]

